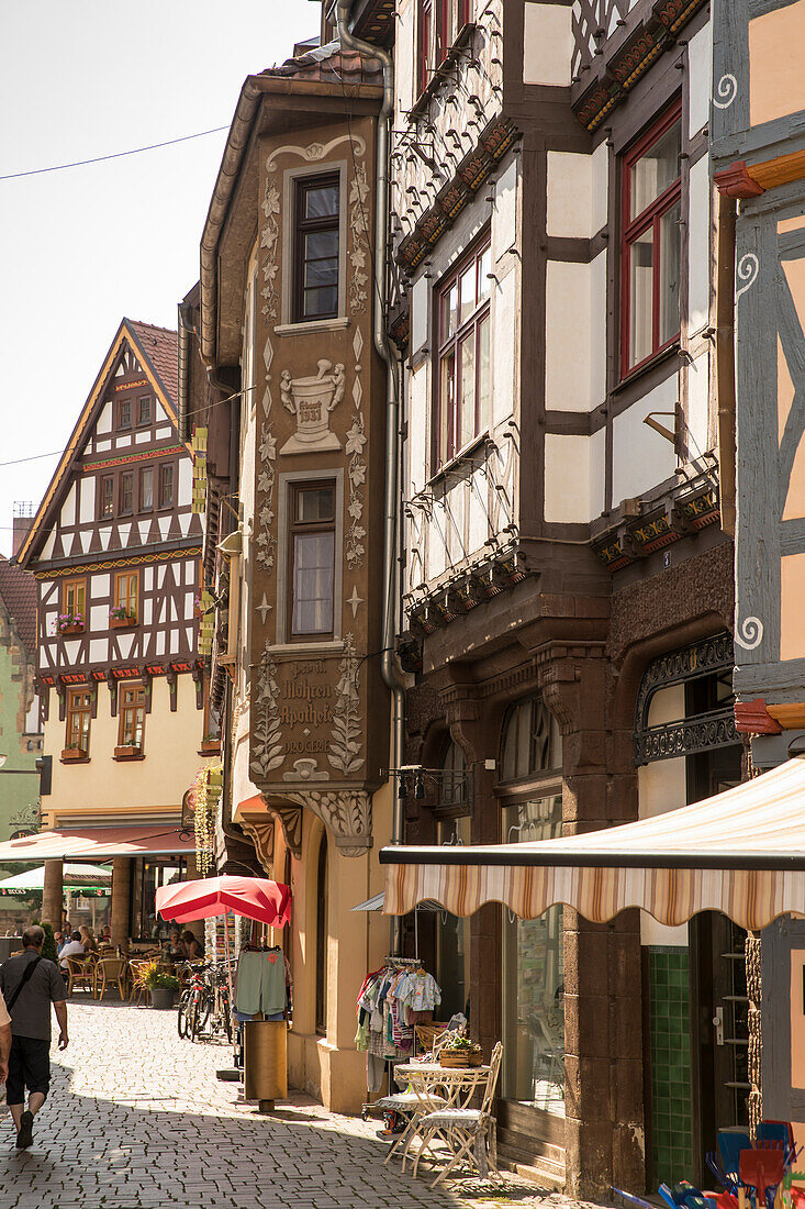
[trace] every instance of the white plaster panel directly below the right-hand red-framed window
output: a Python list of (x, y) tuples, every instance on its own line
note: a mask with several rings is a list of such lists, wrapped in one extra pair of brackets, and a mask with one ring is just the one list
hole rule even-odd
[[(673, 476), (677, 455), (671, 441), (653, 432), (643, 418), (649, 411), (673, 411), (679, 399), (679, 375), (674, 374), (613, 421), (612, 502), (639, 496)], [(660, 423), (673, 428), (672, 416)]]

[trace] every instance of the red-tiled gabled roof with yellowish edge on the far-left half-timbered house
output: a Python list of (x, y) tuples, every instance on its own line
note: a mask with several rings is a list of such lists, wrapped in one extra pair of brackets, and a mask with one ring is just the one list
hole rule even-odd
[[(56, 473), (42, 496), (34, 523), (15, 556), (13, 561), (22, 567), (28, 566), (37, 544), (45, 540), (51, 525), (56, 520), (58, 509), (70, 486), (70, 473), (76, 459), (81, 457), (92, 432), (92, 426), (100, 412), (104, 393), (126, 342), (129, 343), (137, 355), (143, 366), (143, 372), (151, 383), (154, 393), (164, 407), (172, 423), (176, 424), (176, 332), (170, 331), (168, 328), (156, 328), (154, 324), (141, 323), (138, 319), (122, 319), (87, 401), (76, 421), (59, 464), (56, 468)], [(187, 449), (190, 451), (190, 446)]]

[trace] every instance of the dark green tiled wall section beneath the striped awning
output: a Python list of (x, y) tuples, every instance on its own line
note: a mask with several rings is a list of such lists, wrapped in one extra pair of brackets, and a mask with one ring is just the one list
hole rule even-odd
[(653, 1184), (691, 1176), (688, 950), (649, 948)]

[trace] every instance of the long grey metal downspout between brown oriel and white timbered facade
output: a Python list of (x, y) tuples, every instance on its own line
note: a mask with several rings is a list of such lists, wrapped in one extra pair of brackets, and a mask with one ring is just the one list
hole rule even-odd
[[(377, 117), (377, 169), (375, 177), (375, 348), (387, 366), (386, 378), (386, 499), (383, 511), (383, 650), (381, 672), (392, 694), (392, 769), (402, 763), (405, 751), (404, 682), (394, 653), (394, 620), (399, 562), (396, 559), (399, 401), (398, 361), (386, 335), (386, 260), (388, 253), (388, 152), (394, 110), (394, 60), (392, 56), (349, 31), (352, 0), (337, 0), (338, 37), (346, 50), (380, 59), (383, 66), (383, 104)], [(402, 799), (394, 793), (392, 843), (404, 839)]]

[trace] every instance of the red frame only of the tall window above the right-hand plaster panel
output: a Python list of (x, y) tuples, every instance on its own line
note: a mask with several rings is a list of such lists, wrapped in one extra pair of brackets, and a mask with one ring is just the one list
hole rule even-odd
[[(670, 109), (645, 132), (645, 134), (633, 144), (621, 156), (621, 243), (620, 243), (620, 365), (621, 377), (633, 374), (635, 370), (647, 365), (658, 353), (670, 348), (679, 340), (679, 328), (665, 341), (660, 341), (660, 283), (662, 273), (660, 220), (672, 209), (682, 197), (682, 162), (676, 179), (655, 197), (636, 218), (631, 215), (631, 184), (632, 168), (654, 146), (654, 144), (676, 123), (681, 123), (682, 129), (682, 98), (676, 100)], [(630, 335), (631, 335), (631, 259), (632, 244), (644, 235), (648, 229), (653, 229), (654, 236), (654, 261), (653, 261), (653, 289), (651, 289), (651, 351), (639, 361), (631, 360)], [(682, 260), (682, 250), (681, 258)]]

